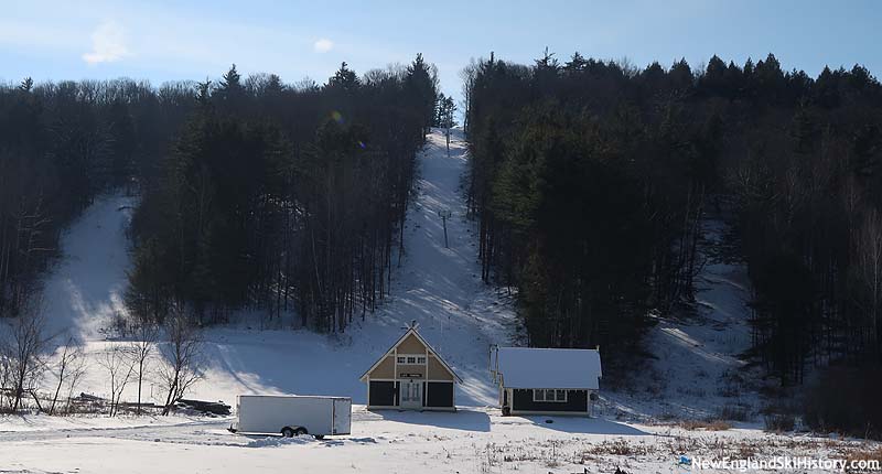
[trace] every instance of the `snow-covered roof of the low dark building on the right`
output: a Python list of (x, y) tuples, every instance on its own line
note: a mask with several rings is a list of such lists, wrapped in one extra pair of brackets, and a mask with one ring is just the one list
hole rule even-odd
[(506, 388), (596, 390), (602, 376), (594, 349), (499, 347), (498, 371)]

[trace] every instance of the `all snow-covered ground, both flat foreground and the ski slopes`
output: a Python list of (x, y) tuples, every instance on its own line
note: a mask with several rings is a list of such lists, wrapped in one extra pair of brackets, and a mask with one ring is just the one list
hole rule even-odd
[[(450, 158), (443, 136), (435, 131), (429, 137), (405, 230), (402, 265), (390, 298), (364, 323), (338, 336), (258, 331), (246, 321), (207, 331), (208, 366), (194, 398), (232, 405), (238, 394), (351, 396), (356, 403), (351, 435), (323, 441), (245, 437), (225, 430), (232, 418), (182, 414), (3, 417), (0, 472), (581, 473), (622, 467), (643, 473), (680, 470), (680, 455), (838, 459), (868, 449), (827, 438), (766, 434), (755, 427), (687, 431), (658, 422), (666, 414), (699, 419), (714, 416), (725, 403), (756, 403), (752, 389), (727, 388), (739, 384), (732, 374), (743, 365), (738, 355), (749, 343), (747, 294), (743, 271), (716, 261), (700, 278), (698, 315), (660, 319), (649, 335), (658, 359), (630, 387), (611, 391), (602, 386), (599, 418), (501, 417), (493, 408), (496, 389), (487, 373), (487, 351), (490, 344), (516, 340), (518, 324), (510, 295), (480, 281), (474, 228), (465, 219), (460, 187), (464, 153), (459, 132)], [(125, 311), (125, 226), (131, 205), (130, 198), (107, 197), (92, 206), (66, 234), (65, 259), (46, 281), (52, 331), (76, 336), (93, 359), (121, 344), (108, 341), (104, 328), (116, 312)], [(441, 209), (453, 213), (450, 248), (443, 243)], [(464, 379), (456, 389), (455, 413), (368, 412), (359, 405), (366, 390), (358, 377), (412, 320)], [(100, 366), (92, 364), (78, 391), (106, 396), (106, 380)], [(132, 390), (130, 386), (126, 398), (132, 398)], [(152, 384), (146, 392), (161, 398)]]

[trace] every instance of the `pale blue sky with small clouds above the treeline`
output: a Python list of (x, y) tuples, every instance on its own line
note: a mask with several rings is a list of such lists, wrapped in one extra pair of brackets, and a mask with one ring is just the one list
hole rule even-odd
[(815, 76), (860, 63), (882, 74), (882, 1), (69, 1), (2, 0), (0, 80), (127, 76), (154, 83), (271, 72), (324, 82), (417, 53), (459, 93), (471, 57), (530, 62), (548, 46), (601, 58), (711, 55), (743, 63), (774, 52)]

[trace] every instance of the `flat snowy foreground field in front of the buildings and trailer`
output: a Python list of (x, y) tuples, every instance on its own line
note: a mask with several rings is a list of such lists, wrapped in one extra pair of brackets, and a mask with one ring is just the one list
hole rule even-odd
[(706, 432), (604, 419), (501, 417), (498, 410), (481, 408), (418, 413), (355, 407), (352, 434), (322, 441), (232, 434), (225, 430), (228, 420), (49, 418), (30, 418), (41, 429), (19, 424), (14, 431), (0, 431), (0, 472), (562, 474), (613, 473), (619, 467), (669, 473), (688, 471), (678, 465), (681, 455), (845, 460), (867, 459), (878, 449), (859, 441), (755, 430)]

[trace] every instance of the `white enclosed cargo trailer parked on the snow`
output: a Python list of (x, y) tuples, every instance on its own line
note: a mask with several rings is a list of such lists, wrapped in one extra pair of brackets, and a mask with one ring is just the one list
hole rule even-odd
[(230, 431), (281, 433), (284, 437), (349, 434), (352, 398), (315, 396), (240, 395), (238, 421)]

